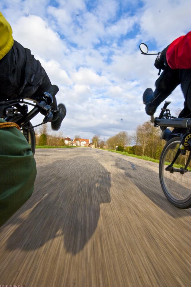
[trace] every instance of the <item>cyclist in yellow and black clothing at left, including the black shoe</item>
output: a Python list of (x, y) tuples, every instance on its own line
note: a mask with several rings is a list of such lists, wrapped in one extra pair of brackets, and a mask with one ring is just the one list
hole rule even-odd
[[(30, 98), (37, 100), (51, 86), (50, 79), (41, 63), (31, 51), (13, 40), (12, 29), (0, 12), (0, 99)], [(66, 115), (64, 104), (57, 106), (53, 97), (54, 114), (51, 127), (58, 130)]]

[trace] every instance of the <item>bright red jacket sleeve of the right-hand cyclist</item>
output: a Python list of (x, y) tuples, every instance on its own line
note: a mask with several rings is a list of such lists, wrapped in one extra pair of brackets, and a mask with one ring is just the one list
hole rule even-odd
[(171, 69), (191, 69), (191, 32), (169, 45), (166, 60)]

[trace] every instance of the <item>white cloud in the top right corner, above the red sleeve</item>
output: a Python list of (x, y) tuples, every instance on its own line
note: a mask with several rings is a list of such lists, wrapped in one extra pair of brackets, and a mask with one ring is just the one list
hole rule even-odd
[(190, 31), (190, 0), (145, 0), (141, 29), (160, 47)]

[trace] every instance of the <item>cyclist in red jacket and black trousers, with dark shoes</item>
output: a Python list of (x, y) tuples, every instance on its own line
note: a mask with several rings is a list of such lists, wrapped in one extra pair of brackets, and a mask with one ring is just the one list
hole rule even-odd
[[(185, 101), (184, 108), (178, 117), (191, 117), (191, 32), (177, 38), (160, 52), (155, 60), (155, 67), (164, 71), (155, 82), (155, 91), (147, 88), (143, 93), (147, 115), (153, 115), (157, 106), (181, 84)], [(184, 131), (174, 129), (173, 133), (175, 132)], [(171, 134), (169, 129), (166, 129), (167, 134), (168, 136)], [(166, 139), (169, 138), (166, 137)]]

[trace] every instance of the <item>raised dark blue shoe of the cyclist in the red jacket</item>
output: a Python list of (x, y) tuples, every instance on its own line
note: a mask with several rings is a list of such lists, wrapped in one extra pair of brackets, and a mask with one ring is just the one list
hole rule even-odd
[(158, 104), (154, 103), (155, 96), (151, 88), (147, 88), (143, 93), (143, 104), (145, 104), (145, 111), (147, 115), (154, 115)]

